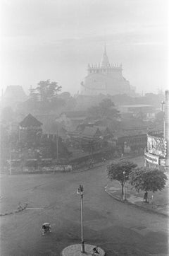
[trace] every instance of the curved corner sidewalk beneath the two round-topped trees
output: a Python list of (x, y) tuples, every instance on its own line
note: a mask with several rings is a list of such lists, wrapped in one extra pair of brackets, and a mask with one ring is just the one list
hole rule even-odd
[[(105, 187), (105, 191), (114, 199), (118, 201), (123, 201), (122, 187), (120, 182), (114, 180), (113, 182), (108, 182)], [(131, 185), (126, 182), (125, 185), (125, 203), (133, 204), (139, 208), (145, 209), (146, 211), (151, 211), (156, 214), (162, 214), (163, 216), (169, 216), (169, 204), (168, 204), (168, 192), (169, 192), (169, 182), (162, 191), (149, 192), (149, 204), (143, 202), (144, 192), (136, 192)]]

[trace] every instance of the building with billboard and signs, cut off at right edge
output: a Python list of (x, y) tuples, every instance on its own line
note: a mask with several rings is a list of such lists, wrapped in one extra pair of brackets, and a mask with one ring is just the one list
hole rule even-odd
[(165, 91), (163, 132), (149, 132), (144, 151), (145, 165), (150, 167), (169, 167), (169, 91)]

